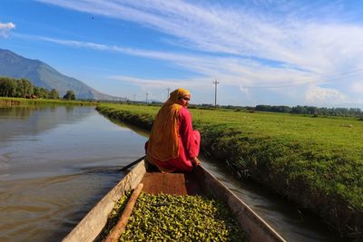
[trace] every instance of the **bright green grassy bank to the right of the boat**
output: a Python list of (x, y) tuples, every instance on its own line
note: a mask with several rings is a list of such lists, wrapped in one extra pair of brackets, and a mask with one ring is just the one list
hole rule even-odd
[[(101, 104), (98, 111), (150, 130), (158, 107)], [(204, 154), (362, 238), (363, 122), (290, 114), (191, 109)]]

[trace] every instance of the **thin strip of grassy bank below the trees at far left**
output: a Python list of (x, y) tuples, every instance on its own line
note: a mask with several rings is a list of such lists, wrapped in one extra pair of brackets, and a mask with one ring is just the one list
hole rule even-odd
[(0, 106), (33, 106), (33, 105), (91, 105), (91, 106), (95, 106), (96, 102), (0, 97)]

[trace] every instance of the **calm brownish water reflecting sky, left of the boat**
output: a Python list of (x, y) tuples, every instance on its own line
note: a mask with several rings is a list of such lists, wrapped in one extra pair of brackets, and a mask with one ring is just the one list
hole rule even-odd
[(143, 155), (91, 107), (0, 108), (0, 241), (60, 241)]

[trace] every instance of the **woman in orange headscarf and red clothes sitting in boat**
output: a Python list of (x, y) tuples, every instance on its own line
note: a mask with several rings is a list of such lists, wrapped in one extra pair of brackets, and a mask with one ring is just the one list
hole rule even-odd
[(198, 160), (201, 134), (192, 130), (187, 110), (191, 92), (177, 89), (162, 105), (145, 144), (146, 160), (164, 172), (189, 172), (201, 164)]

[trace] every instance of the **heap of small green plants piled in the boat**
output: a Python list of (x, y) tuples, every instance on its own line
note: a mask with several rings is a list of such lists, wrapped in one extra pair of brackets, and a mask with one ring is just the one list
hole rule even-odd
[[(121, 217), (121, 198), (108, 218), (107, 237)], [(234, 214), (213, 198), (141, 193), (119, 241), (248, 241)]]

